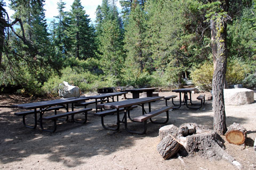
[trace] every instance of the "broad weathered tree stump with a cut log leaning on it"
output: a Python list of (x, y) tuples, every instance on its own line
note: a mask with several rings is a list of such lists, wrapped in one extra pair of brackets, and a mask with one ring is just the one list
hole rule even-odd
[(173, 157), (183, 148), (189, 156), (199, 155), (208, 159), (225, 159), (238, 169), (242, 168), (241, 164), (222, 149), (224, 141), (213, 130), (195, 123), (182, 124), (178, 131), (175, 127), (169, 126), (159, 132), (162, 137), (168, 133), (157, 145), (157, 150), (164, 159)]

